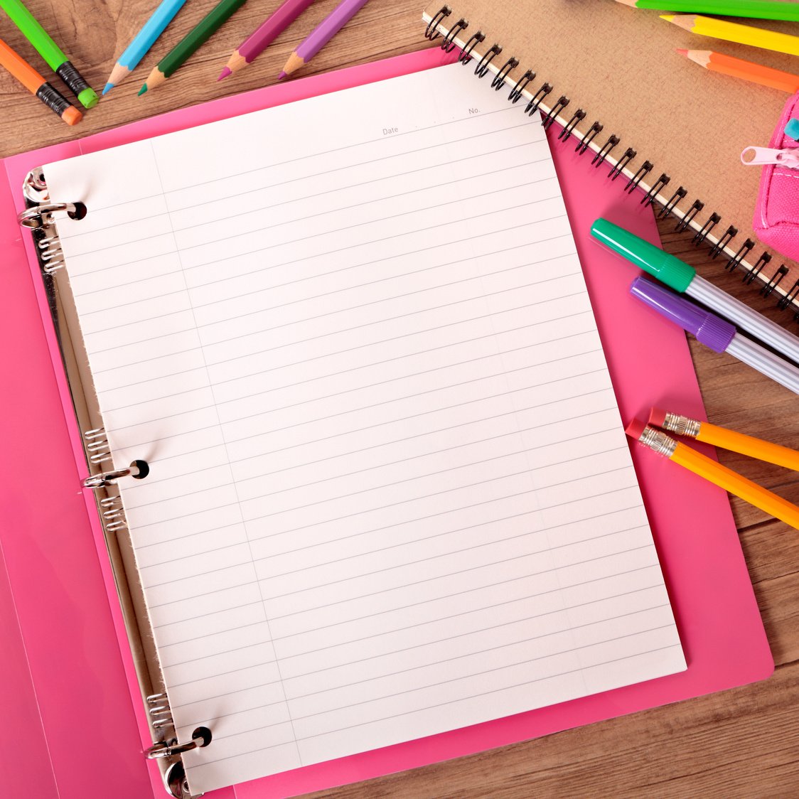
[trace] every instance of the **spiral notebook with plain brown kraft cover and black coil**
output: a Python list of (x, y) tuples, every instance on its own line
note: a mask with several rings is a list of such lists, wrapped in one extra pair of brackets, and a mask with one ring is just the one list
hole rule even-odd
[[(665, 4), (665, 7), (668, 3)], [(427, 37), (452, 49), (500, 96), (547, 122), (621, 189), (643, 190), (662, 217), (693, 229), (721, 266), (799, 314), (799, 267), (764, 250), (753, 231), (760, 169), (741, 164), (750, 145), (767, 147), (787, 95), (700, 69), (677, 48), (714, 40), (613, 0), (453, 0), (423, 14)], [(746, 24), (796, 33), (796, 24)], [(751, 47), (719, 42), (752, 60)], [(718, 48), (717, 48), (718, 49)], [(795, 58), (757, 50), (756, 60), (789, 73)], [(487, 91), (483, 91), (483, 94)], [(799, 319), (799, 316), (795, 316)]]

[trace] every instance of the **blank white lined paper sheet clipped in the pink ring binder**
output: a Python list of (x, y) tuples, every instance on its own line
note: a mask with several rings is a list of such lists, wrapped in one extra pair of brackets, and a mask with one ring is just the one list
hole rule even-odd
[(686, 667), (547, 141), (469, 73), (46, 167), (193, 793)]

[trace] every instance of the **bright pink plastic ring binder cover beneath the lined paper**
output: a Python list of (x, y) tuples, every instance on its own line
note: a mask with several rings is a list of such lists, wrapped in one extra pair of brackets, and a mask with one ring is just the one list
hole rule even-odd
[[(0, 794), (85, 799), (87, 791), (99, 795), (113, 786), (122, 799), (163, 796), (157, 770), (152, 764), (147, 769), (141, 755), (149, 744), (144, 710), (93, 501), (78, 488), (85, 463), (46, 298), (30, 237), (14, 221), (23, 177), (49, 161), (451, 60), (438, 48), (426, 50), (6, 158), (8, 185), (0, 184), (0, 251), (6, 256), (0, 292), (6, 459), (0, 486), (0, 633), (6, 649), (0, 697), (11, 713), (0, 725)], [(553, 140), (556, 134), (552, 129)], [(571, 143), (555, 142), (553, 150), (623, 418), (650, 404), (705, 418), (685, 336), (630, 300), (634, 270), (588, 234), (594, 218), (603, 216), (656, 242), (651, 210), (642, 208), (640, 196), (611, 188), (607, 170), (590, 168)], [(686, 672), (236, 785), (207, 794), (209, 799), (324, 789), (767, 677), (773, 661), (725, 493), (640, 447), (634, 461)]]

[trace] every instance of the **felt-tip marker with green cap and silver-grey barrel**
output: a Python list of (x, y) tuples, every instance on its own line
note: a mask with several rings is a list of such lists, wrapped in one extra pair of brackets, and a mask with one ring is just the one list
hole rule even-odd
[(746, 332), (765, 344), (769, 344), (786, 358), (799, 364), (799, 338), (789, 333), (778, 324), (766, 319), (765, 316), (749, 308), (749, 305), (729, 296), (721, 288), (708, 283), (703, 277), (698, 276), (694, 267), (685, 261), (663, 252), (641, 237), (630, 233), (629, 230), (620, 228), (606, 219), (598, 219), (591, 225), (591, 235), (606, 244), (614, 252), (644, 272), (657, 277), (675, 292), (694, 297), (708, 308), (712, 308), (730, 322), (737, 324)]

